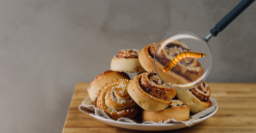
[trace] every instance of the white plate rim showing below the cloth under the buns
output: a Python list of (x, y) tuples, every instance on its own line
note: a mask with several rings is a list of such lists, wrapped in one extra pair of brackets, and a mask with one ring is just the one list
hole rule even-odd
[[(90, 105), (92, 101), (89, 97), (86, 97), (85, 100), (82, 102), (83, 105)], [(204, 120), (213, 116), (218, 110), (218, 104), (216, 106), (215, 111), (209, 113), (208, 115), (193, 121), (193, 125), (203, 122)], [(110, 124), (115, 127), (125, 128), (125, 129), (132, 129), (132, 130), (142, 130), (142, 131), (165, 131), (165, 130), (174, 130), (188, 127), (184, 123), (168, 123), (168, 124), (141, 124), (141, 123), (129, 123), (129, 122), (119, 122), (114, 120), (109, 120), (106, 118), (98, 117), (94, 114), (89, 114), (93, 118), (97, 119), (100, 122), (104, 122)]]

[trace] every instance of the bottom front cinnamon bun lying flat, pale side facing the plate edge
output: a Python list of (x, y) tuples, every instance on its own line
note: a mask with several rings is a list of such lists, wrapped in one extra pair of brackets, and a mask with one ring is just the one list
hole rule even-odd
[(171, 104), (162, 111), (142, 111), (142, 121), (164, 122), (169, 119), (186, 121), (189, 119), (189, 106), (180, 100), (171, 100)]

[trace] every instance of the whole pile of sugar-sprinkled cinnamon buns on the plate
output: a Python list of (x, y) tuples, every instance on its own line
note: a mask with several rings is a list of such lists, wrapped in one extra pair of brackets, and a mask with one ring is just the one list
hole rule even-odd
[[(160, 80), (154, 67), (157, 45), (146, 45), (141, 51), (120, 50), (111, 60), (111, 70), (101, 73), (91, 82), (90, 99), (111, 119), (139, 117), (142, 122), (187, 121), (191, 113), (210, 107), (210, 89), (206, 82), (193, 89), (173, 89)], [(175, 56), (175, 53), (182, 51), (190, 49), (174, 41), (166, 46), (161, 56), (170, 53)], [(162, 68), (168, 61), (159, 59), (156, 68)], [(175, 83), (190, 83), (203, 71), (200, 63), (193, 58), (178, 63), (166, 78)], [(127, 72), (138, 74), (131, 79)]]

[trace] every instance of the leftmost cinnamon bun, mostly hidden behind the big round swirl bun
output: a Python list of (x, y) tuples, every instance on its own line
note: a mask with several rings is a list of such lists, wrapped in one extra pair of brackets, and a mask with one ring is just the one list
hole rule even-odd
[(114, 72), (112, 70), (108, 70), (106, 72), (101, 73), (90, 84), (89, 97), (94, 102), (98, 97), (98, 91), (104, 86), (106, 83), (113, 81), (115, 79), (128, 79), (130, 80), (129, 75), (123, 72)]

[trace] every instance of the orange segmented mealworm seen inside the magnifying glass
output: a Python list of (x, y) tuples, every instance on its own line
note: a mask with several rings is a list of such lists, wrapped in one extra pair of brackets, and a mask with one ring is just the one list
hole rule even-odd
[(204, 53), (197, 53), (197, 52), (182, 52), (176, 55), (167, 65), (162, 68), (163, 72), (170, 71), (177, 63), (182, 60), (183, 58), (192, 57), (192, 58), (201, 58), (206, 56)]

